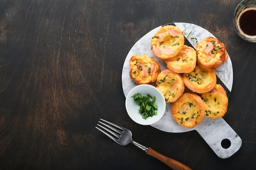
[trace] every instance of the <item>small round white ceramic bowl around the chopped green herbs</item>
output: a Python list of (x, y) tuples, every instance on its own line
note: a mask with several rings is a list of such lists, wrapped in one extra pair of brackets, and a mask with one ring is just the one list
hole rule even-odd
[[(146, 120), (142, 118), (142, 116), (139, 114), (140, 106), (134, 102), (134, 98), (132, 97), (134, 95), (137, 95), (138, 93), (140, 93), (141, 96), (146, 96), (149, 94), (152, 97), (156, 98), (154, 104), (157, 105), (157, 110), (155, 110), (157, 112), (157, 115), (153, 115), (153, 117), (147, 117)], [(137, 124), (141, 125), (150, 125), (159, 121), (159, 119), (161, 119), (164, 115), (166, 109), (166, 102), (162, 93), (157, 88), (149, 84), (140, 84), (132, 88), (132, 90), (126, 96), (125, 105), (126, 111), (130, 118)]]

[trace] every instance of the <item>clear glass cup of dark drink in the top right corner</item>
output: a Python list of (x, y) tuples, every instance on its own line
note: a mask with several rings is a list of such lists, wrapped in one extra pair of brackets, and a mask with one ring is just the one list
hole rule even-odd
[(237, 35), (247, 42), (256, 42), (256, 0), (243, 0), (233, 17)]

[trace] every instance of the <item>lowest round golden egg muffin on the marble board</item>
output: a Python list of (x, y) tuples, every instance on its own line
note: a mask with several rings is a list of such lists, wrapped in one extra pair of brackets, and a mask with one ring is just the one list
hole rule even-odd
[(193, 128), (204, 119), (204, 102), (195, 93), (183, 93), (176, 102), (172, 103), (171, 115), (181, 126)]

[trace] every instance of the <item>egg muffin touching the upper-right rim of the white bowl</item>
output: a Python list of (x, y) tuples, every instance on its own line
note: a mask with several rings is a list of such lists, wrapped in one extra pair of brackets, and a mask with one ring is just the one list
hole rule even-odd
[(156, 88), (164, 95), (166, 103), (175, 102), (185, 89), (181, 75), (168, 69), (159, 73), (156, 84)]

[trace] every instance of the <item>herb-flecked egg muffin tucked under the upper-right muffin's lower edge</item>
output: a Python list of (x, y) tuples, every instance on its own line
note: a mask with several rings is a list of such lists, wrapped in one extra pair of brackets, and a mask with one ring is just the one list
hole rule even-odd
[(182, 79), (186, 87), (195, 93), (211, 91), (217, 82), (216, 73), (213, 69), (204, 71), (198, 65), (190, 73), (183, 73)]

